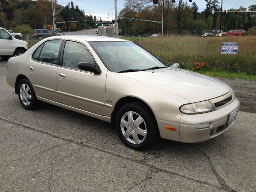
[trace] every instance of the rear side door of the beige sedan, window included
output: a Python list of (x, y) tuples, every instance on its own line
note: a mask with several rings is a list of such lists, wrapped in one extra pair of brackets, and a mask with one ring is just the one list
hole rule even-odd
[(62, 40), (48, 40), (28, 57), (26, 70), (37, 96), (58, 102), (56, 73)]

